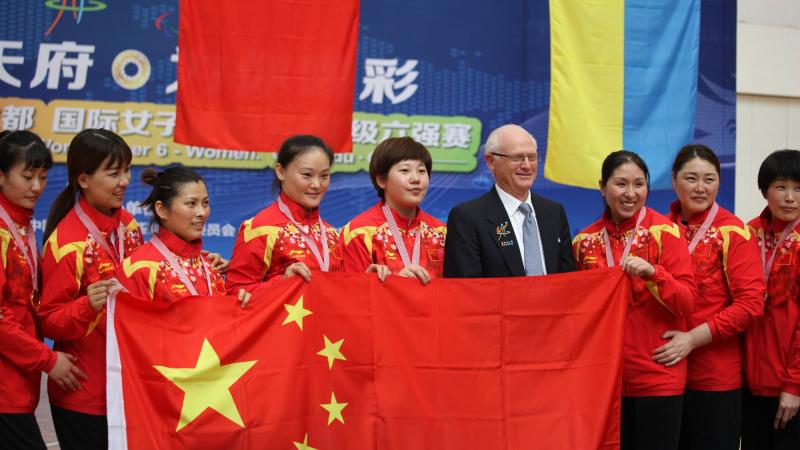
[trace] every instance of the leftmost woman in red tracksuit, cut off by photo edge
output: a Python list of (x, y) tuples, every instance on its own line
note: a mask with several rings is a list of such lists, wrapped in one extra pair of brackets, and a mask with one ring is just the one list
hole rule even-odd
[(30, 131), (0, 139), (0, 448), (45, 449), (34, 410), (42, 372), (61, 389), (84, 378), (68, 353), (50, 350), (36, 328), (39, 250), (31, 220), (53, 158)]

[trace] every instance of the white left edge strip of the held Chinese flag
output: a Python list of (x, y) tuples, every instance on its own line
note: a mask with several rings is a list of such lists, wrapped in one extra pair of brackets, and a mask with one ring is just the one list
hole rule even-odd
[(119, 291), (125, 291), (125, 288), (117, 282), (110, 289), (106, 303), (106, 404), (108, 405), (109, 450), (128, 449), (125, 398), (122, 396), (122, 363), (119, 359), (117, 331), (114, 327), (114, 310), (117, 306), (117, 292)]

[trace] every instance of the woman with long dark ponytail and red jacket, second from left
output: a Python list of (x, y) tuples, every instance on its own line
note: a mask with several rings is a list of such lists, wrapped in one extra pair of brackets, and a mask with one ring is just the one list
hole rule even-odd
[(48, 386), (64, 450), (108, 447), (106, 297), (122, 259), (142, 244), (139, 224), (122, 209), (130, 163), (131, 150), (116, 134), (78, 133), (67, 153), (67, 187), (47, 218), (39, 324), (87, 377), (76, 391)]

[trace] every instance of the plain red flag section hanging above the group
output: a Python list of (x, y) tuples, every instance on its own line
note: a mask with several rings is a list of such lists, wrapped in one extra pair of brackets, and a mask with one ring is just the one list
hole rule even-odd
[(175, 141), (352, 150), (359, 0), (180, 2)]

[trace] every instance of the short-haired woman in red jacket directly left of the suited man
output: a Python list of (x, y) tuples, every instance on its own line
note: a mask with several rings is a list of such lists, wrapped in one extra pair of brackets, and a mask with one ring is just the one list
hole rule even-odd
[(447, 228), (419, 208), (428, 190), (431, 154), (410, 137), (378, 144), (369, 176), (379, 201), (342, 229), (344, 271), (441, 277)]

